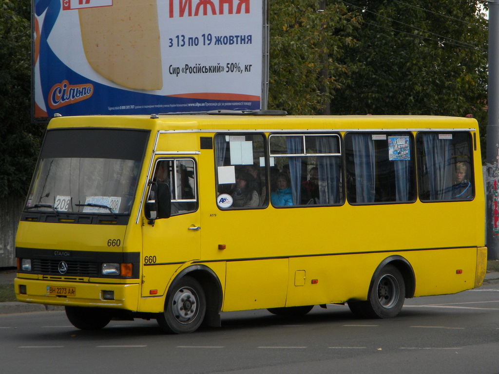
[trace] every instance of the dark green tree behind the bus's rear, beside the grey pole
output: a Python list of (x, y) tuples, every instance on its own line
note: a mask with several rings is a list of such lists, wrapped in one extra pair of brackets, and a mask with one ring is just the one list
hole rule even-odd
[[(465, 116), (487, 126), (488, 20), (473, 0), (348, 0), (362, 16), (336, 114)], [(485, 145), (483, 147), (485, 150)]]

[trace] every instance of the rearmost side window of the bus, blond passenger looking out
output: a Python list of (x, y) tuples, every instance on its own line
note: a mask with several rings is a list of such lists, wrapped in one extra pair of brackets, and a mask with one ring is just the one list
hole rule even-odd
[(475, 196), (472, 137), (467, 132), (418, 133), (419, 198), (471, 200)]

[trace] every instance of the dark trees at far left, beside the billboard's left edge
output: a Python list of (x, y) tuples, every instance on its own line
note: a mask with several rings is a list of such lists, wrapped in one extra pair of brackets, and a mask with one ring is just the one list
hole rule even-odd
[(44, 125), (30, 124), (30, 0), (0, 0), (0, 197), (23, 196)]

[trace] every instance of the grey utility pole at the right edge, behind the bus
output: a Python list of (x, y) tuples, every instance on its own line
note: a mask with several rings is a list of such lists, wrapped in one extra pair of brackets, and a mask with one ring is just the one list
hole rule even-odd
[(489, 97), (486, 170), (488, 257), (499, 259), (499, 0), (489, 2)]

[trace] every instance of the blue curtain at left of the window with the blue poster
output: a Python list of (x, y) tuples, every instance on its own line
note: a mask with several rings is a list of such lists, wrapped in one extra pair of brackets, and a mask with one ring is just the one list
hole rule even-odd
[(371, 134), (352, 134), (358, 203), (374, 202), (375, 154)]

